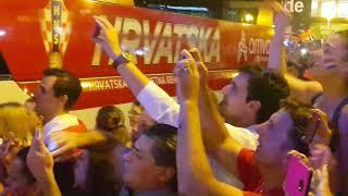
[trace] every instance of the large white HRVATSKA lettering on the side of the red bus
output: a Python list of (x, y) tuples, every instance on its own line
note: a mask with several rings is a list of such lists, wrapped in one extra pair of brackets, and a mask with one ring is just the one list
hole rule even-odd
[[(219, 28), (129, 17), (115, 17), (114, 27), (121, 33), (122, 50), (144, 58), (145, 65), (159, 64), (163, 58), (166, 63), (175, 63), (181, 50), (191, 47), (200, 49), (204, 62), (221, 60)], [(100, 45), (96, 44), (91, 65), (101, 64), (101, 53)]]

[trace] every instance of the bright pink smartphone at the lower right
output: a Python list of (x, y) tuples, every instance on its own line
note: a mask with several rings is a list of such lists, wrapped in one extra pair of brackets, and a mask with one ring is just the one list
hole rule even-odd
[(291, 156), (285, 177), (285, 192), (290, 196), (308, 196), (312, 173), (300, 158)]

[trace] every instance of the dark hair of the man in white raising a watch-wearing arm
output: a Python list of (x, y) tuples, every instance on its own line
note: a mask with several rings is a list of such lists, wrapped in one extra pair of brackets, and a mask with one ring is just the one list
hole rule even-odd
[(279, 73), (262, 71), (258, 64), (246, 64), (239, 71), (249, 75), (247, 101), (258, 100), (261, 103), (257, 123), (265, 122), (279, 109), (279, 101), (289, 96), (287, 81)]

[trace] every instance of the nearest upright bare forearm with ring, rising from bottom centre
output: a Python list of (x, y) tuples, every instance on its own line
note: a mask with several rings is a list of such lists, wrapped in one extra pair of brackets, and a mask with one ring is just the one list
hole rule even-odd
[(214, 179), (206, 155), (198, 112), (199, 74), (188, 51), (182, 52), (185, 60), (178, 62), (175, 75), (178, 78), (179, 127), (176, 149), (178, 189), (183, 195), (243, 195), (240, 189)]

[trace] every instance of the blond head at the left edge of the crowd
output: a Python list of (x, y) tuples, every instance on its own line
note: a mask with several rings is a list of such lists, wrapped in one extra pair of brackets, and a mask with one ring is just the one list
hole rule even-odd
[(30, 144), (37, 122), (38, 118), (17, 102), (0, 105), (0, 137), (3, 139), (12, 134), (23, 145)]

